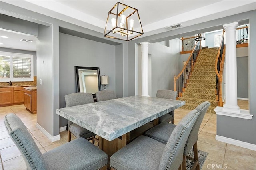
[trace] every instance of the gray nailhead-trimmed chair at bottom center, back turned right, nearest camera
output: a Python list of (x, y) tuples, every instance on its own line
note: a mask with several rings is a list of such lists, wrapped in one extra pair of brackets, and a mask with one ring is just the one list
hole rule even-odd
[(167, 144), (139, 136), (110, 157), (111, 169), (177, 170), (182, 164), (184, 146), (198, 117), (193, 110), (173, 130)]

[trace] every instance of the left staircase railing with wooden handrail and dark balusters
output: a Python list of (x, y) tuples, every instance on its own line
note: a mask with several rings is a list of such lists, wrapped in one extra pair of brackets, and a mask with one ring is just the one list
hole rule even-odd
[(183, 88), (186, 87), (188, 76), (193, 69), (194, 62), (200, 49), (201, 43), (200, 41), (197, 41), (192, 49), (192, 53), (190, 53), (188, 60), (184, 64), (182, 71), (177, 76), (174, 76), (174, 91), (178, 92), (177, 97), (182, 97)]

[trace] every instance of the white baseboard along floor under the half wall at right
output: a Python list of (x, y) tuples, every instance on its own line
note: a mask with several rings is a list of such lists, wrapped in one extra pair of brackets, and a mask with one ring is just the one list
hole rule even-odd
[(240, 146), (242, 148), (246, 148), (246, 149), (256, 151), (256, 145), (255, 144), (251, 144), (251, 143), (247, 143), (247, 142), (243, 142), (243, 141), (240, 141), (240, 140), (235, 140), (235, 139), (231, 139), (231, 138), (227, 138), (227, 137), (219, 136), (219, 135), (216, 135), (215, 139), (220, 141), (220, 142), (225, 142), (225, 143), (228, 143), (228, 144), (233, 144), (233, 145), (236, 145), (236, 146)]

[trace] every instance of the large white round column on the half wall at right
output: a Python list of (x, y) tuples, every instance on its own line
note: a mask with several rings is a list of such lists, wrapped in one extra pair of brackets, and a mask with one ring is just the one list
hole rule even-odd
[(238, 22), (223, 25), (226, 32), (226, 87), (225, 104), (223, 111), (231, 113), (240, 113), (240, 107), (237, 105), (237, 64), (236, 64), (236, 28)]

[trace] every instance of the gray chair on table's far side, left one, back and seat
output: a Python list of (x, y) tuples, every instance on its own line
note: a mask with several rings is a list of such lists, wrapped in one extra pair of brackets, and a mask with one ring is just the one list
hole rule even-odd
[[(84, 105), (87, 103), (93, 103), (92, 93), (71, 93), (69, 95), (65, 95), (66, 107), (76, 106), (76, 105)], [(94, 143), (94, 134), (89, 130), (76, 125), (75, 123), (68, 121), (68, 142), (71, 140), (71, 133), (74, 134), (76, 138), (85, 138), (87, 140), (93, 139)]]

